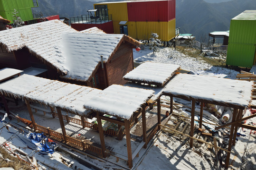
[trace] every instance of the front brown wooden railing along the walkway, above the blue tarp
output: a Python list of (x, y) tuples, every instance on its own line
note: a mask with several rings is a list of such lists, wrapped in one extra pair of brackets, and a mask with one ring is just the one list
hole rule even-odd
[[(45, 135), (49, 135), (52, 138), (56, 137), (56, 138), (58, 138), (60, 140), (64, 140), (64, 136), (61, 133), (58, 133), (58, 132), (56, 132), (54, 130), (51, 130), (48, 127), (46, 128), (46, 127), (42, 127), (42, 126), (36, 124), (35, 125), (35, 130), (38, 130), (40, 132), (44, 132)], [(78, 139), (70, 137), (70, 136), (65, 136), (65, 137), (66, 137), (66, 142), (67, 143), (79, 146), (79, 147), (81, 147), (83, 149), (83, 151), (88, 150), (88, 151), (96, 153), (96, 154), (98, 154), (100, 156), (103, 156), (101, 148), (99, 148), (97, 146), (94, 146), (92, 144), (87, 144), (87, 143), (85, 143), (84, 140), (81, 141), (81, 140), (78, 140)]]

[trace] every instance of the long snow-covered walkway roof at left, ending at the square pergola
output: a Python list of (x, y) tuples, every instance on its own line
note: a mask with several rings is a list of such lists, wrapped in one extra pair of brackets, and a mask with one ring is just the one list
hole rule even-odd
[(90, 112), (83, 105), (100, 92), (101, 90), (91, 87), (26, 74), (0, 84), (2, 94), (57, 106), (80, 115)]

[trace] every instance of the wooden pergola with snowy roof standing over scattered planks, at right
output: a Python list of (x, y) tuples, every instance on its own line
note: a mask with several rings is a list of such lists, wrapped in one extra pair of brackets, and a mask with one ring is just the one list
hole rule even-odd
[[(242, 124), (241, 121), (255, 117), (255, 115), (248, 116), (242, 119), (243, 110), (248, 107), (251, 101), (251, 91), (254, 83), (242, 82), (231, 79), (179, 74), (171, 79), (170, 83), (163, 89), (162, 95), (170, 96), (170, 109), (172, 113), (173, 109), (173, 97), (191, 101), (191, 126), (190, 126), (190, 147), (193, 146), (193, 134), (194, 134), (194, 115), (195, 115), (195, 103), (201, 102), (200, 106), (200, 119), (199, 127), (202, 127), (203, 118), (203, 105), (204, 103), (216, 104), (220, 106), (234, 108), (232, 122), (223, 126), (216, 127), (219, 129), (231, 125), (228, 153), (226, 159), (226, 168), (229, 165), (229, 158), (232, 144), (236, 143), (237, 128), (245, 127), (248, 129), (256, 129), (256, 127)], [(221, 94), (224, 95), (221, 95)], [(158, 98), (160, 103), (160, 97)], [(158, 104), (158, 110), (161, 110), (160, 104)]]

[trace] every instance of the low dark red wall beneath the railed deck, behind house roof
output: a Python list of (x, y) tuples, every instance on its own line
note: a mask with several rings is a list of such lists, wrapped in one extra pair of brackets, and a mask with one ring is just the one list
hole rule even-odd
[(114, 34), (113, 22), (107, 22), (103, 24), (71, 24), (71, 27), (76, 29), (77, 31), (82, 31), (88, 28), (97, 27), (103, 30), (107, 34)]

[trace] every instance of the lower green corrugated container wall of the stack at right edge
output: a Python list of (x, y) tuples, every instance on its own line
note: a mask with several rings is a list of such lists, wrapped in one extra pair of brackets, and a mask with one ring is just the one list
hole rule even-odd
[(252, 67), (254, 65), (256, 46), (254, 44), (229, 43), (227, 65)]

